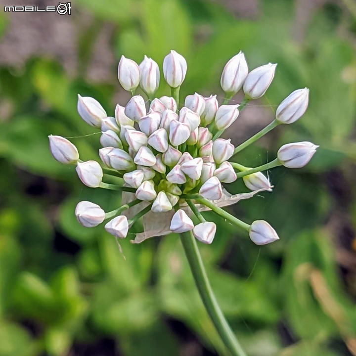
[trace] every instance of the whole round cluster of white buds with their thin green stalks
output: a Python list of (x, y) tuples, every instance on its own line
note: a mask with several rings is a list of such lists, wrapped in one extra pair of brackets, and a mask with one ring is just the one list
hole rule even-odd
[[(179, 108), (179, 88), (187, 71), (184, 57), (174, 50), (165, 57), (163, 74), (172, 96), (155, 98), (160, 82), (157, 63), (145, 56), (137, 65), (122, 56), (118, 79), (122, 87), (133, 94), (125, 107), (118, 104), (112, 117), (95, 99), (78, 96), (80, 116), (101, 131), (99, 156), (104, 167), (96, 161), (80, 160), (77, 148), (66, 138), (49, 136), (54, 158), (64, 164), (75, 164), (78, 177), (85, 185), (121, 190), (126, 194), (127, 202), (108, 213), (94, 203), (80, 202), (75, 211), (79, 223), (92, 227), (111, 219), (105, 229), (117, 238), (125, 238), (137, 219), (149, 216), (151, 224), (157, 221), (157, 225), (162, 225), (163, 222), (162, 226), (156, 226), (156, 233), (192, 230), (197, 240), (210, 244), (216, 225), (205, 221), (200, 213), (210, 209), (247, 230), (258, 245), (277, 240), (277, 233), (267, 222), (257, 220), (249, 225), (221, 208), (243, 198), (242, 194), (231, 196), (223, 185), (243, 178), (247, 188), (252, 190), (246, 195), (250, 197), (272, 188), (261, 171), (278, 165), (299, 168), (310, 161), (317, 146), (299, 142), (282, 146), (277, 158), (261, 167), (247, 168), (229, 162), (233, 155), (272, 128), (298, 120), (307, 109), (309, 89), (292, 92), (278, 106), (274, 121), (240, 146), (234, 147), (230, 139), (220, 138), (249, 100), (265, 94), (275, 68), (276, 64), (269, 63), (249, 72), (245, 56), (240, 52), (223, 69), (221, 87), (225, 99), (222, 105), (216, 95), (203, 97), (194, 93), (186, 96), (184, 106)], [(138, 86), (149, 98), (149, 107), (141, 95), (134, 95)], [(240, 89), (245, 94), (243, 102), (228, 105)], [(104, 182), (104, 175), (116, 177), (117, 184)], [(125, 213), (134, 206), (138, 209), (128, 219)], [(199, 221), (195, 225), (194, 215)], [(150, 236), (152, 233), (147, 237)]]

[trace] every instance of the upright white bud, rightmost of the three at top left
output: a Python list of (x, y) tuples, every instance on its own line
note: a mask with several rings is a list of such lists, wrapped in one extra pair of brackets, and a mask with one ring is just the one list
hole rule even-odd
[(184, 57), (171, 50), (163, 60), (163, 76), (172, 88), (179, 87), (185, 78), (187, 65)]

